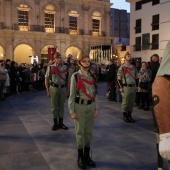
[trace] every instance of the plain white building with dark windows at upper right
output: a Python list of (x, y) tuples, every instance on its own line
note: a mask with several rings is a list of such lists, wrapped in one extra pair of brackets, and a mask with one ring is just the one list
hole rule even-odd
[(162, 57), (170, 40), (170, 1), (126, 0), (130, 2), (130, 51), (133, 57), (150, 61)]

